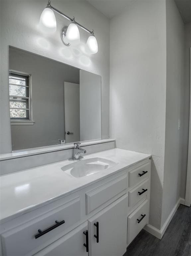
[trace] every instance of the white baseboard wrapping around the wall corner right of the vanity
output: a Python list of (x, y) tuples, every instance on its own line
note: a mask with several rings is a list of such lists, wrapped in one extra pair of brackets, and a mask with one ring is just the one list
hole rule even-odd
[(175, 212), (177, 211), (178, 207), (180, 204), (185, 204), (185, 199), (183, 198), (179, 198), (178, 201), (176, 202), (175, 206), (173, 207), (171, 213), (169, 214), (167, 220), (165, 221), (164, 225), (162, 226), (161, 229), (157, 229), (155, 227), (153, 227), (152, 225), (150, 224), (147, 224), (144, 229), (149, 232), (151, 235), (159, 238), (159, 239), (162, 239), (163, 235), (164, 235), (164, 232), (166, 231), (169, 223), (171, 222)]

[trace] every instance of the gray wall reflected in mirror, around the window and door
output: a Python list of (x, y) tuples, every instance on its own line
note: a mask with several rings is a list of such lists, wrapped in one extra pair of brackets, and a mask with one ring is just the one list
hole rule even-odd
[(34, 125), (11, 125), (12, 149), (58, 144), (64, 139), (64, 81), (79, 83), (79, 69), (10, 48), (9, 68), (32, 74)]

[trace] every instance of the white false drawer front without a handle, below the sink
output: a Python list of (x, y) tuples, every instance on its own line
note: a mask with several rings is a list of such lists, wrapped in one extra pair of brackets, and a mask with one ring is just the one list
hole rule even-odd
[[(86, 212), (87, 214), (109, 201), (111, 198), (127, 189), (127, 174), (106, 183), (105, 185), (86, 193)], [(120, 195), (122, 196), (122, 195)]]

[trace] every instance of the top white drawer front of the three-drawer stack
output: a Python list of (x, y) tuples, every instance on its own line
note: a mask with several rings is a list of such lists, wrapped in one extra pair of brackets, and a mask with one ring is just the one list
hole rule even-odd
[(144, 164), (129, 172), (129, 187), (138, 185), (144, 179), (148, 178), (150, 164)]

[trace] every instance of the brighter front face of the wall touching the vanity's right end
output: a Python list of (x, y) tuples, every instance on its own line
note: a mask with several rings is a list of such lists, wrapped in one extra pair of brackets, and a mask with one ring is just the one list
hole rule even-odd
[(149, 223), (160, 228), (166, 99), (165, 1), (135, 1), (110, 25), (110, 135), (152, 154)]

